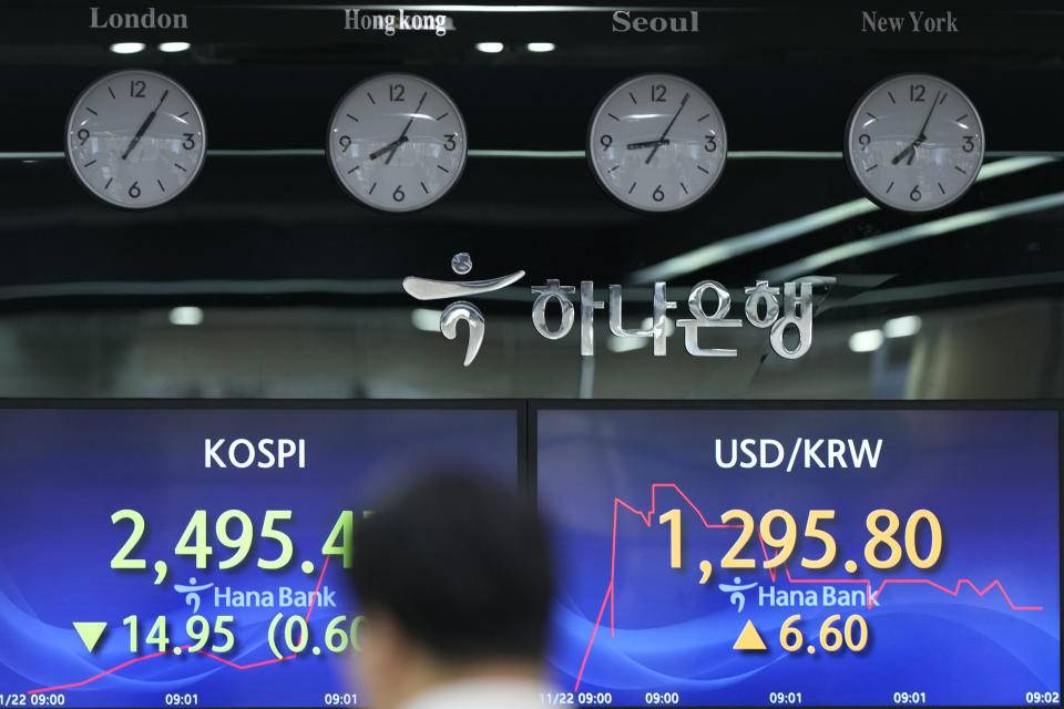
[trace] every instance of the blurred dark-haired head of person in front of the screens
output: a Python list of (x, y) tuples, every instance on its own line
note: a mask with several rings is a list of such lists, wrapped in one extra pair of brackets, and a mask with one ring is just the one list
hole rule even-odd
[(462, 680), (539, 679), (553, 574), (543, 526), (515, 494), (426, 476), (360, 520), (351, 551), (374, 706)]

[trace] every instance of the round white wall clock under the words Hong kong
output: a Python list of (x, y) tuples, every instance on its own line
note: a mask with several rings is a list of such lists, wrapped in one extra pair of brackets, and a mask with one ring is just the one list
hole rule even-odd
[(326, 152), (340, 184), (359, 202), (413, 212), (458, 183), (466, 143), (462, 114), (439, 86), (412, 74), (382, 74), (337, 105)]

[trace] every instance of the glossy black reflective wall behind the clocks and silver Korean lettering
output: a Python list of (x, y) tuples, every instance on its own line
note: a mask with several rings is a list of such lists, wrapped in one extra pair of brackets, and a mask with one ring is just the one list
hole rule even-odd
[[(81, 28), (83, 10), (68, 24)], [(698, 35), (613, 32), (610, 8), (456, 11), (446, 37), (387, 39), (327, 30), (328, 13), (238, 10), (200, 16), (209, 20), (185, 52), (150, 44), (135, 55), (108, 50), (130, 39), (120, 33), (33, 30), (66, 8), (12, 10), (24, 39), (0, 49), (0, 78), (25, 110), (0, 114), (3, 395), (1064, 393), (1064, 134), (1046, 119), (1064, 112), (1062, 92), (1047, 90), (1062, 85), (1056, 13), (970, 10), (964, 33), (932, 38), (871, 37), (859, 13), (814, 6), (703, 8)], [(287, 32), (275, 31), (278, 18)], [(482, 41), (504, 49), (479, 51)], [(538, 41), (555, 49), (529, 51)], [(195, 184), (137, 213), (85, 194), (62, 153), (80, 91), (131, 66), (180, 81), (212, 131)], [(915, 217), (867, 199), (842, 155), (858, 99), (906, 71), (963, 86), (990, 136), (971, 189)], [(352, 202), (321, 145), (337, 97), (386, 72), (446, 86), (472, 141), (461, 181), (416, 214)], [(689, 79), (728, 121), (725, 174), (675, 214), (616, 204), (584, 153), (601, 97), (647, 72)], [(450, 265), (462, 251), (474, 267), (458, 275)], [(422, 301), (402, 289), (410, 276), (492, 281), (522, 270), (472, 296)], [(574, 306), (557, 340), (532, 317), (533, 287), (554, 279), (573, 288)], [(812, 288), (812, 343), (791, 360), (750, 325), (746, 289), (799, 279)], [(706, 280), (727, 289), (725, 315), (745, 325), (703, 330), (698, 347), (735, 357), (687, 350), (677, 320), (692, 319), (687, 301)], [(663, 302), (678, 305), (657, 323), (656, 281)], [(651, 337), (611, 333), (611, 285), (623, 286), (621, 328)], [(703, 296), (713, 314), (713, 294)], [(456, 320), (454, 341), (439, 330), (463, 299), (484, 318), (469, 367), (466, 323)], [(549, 304), (543, 327), (557, 330), (562, 317)]]

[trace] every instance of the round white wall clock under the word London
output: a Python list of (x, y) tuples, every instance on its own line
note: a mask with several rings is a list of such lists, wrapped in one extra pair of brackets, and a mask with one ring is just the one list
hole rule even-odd
[(130, 209), (180, 195), (203, 167), (203, 115), (177, 82), (151, 71), (98, 80), (66, 121), (66, 157), (90, 193)]

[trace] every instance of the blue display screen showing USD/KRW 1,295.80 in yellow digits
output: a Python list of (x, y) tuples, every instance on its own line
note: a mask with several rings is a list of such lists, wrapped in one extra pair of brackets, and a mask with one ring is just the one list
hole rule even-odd
[(551, 703), (1061, 699), (1055, 411), (540, 410)]

